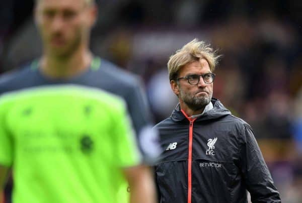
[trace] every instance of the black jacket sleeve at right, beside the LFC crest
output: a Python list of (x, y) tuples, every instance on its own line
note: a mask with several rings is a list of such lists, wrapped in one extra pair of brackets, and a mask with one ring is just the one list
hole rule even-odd
[(253, 130), (245, 124), (241, 133), (244, 139), (240, 150), (241, 169), (252, 202), (281, 202)]

